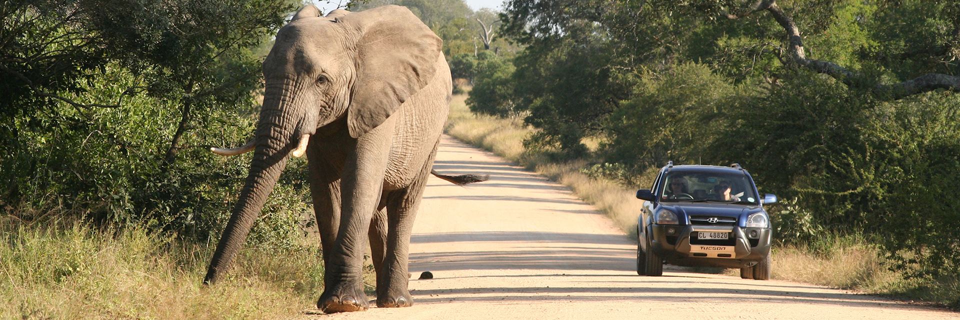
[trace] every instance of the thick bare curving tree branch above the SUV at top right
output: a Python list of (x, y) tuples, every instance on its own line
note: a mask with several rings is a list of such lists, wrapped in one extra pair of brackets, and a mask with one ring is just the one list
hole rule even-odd
[[(797, 24), (793, 19), (784, 13), (775, 1), (762, 1), (760, 4), (765, 4), (762, 10), (770, 12), (770, 14), (774, 16), (774, 19), (780, 23), (780, 27), (783, 27), (783, 30), (786, 32), (789, 41), (787, 52), (790, 55), (790, 61), (814, 72), (826, 74), (847, 86), (858, 86), (858, 83), (862, 83), (858, 82), (858, 80), (864, 78), (860, 73), (848, 70), (834, 62), (807, 59), (806, 53), (804, 52), (803, 38), (800, 36), (800, 30), (797, 28)], [(899, 100), (914, 94), (941, 88), (960, 91), (960, 77), (940, 73), (928, 73), (899, 84), (878, 84), (872, 87), (871, 90), (875, 93), (887, 93), (887, 97), (890, 99)]]

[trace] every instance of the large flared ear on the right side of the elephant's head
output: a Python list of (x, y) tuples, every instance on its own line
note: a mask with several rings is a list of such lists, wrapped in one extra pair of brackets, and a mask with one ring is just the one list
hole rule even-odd
[(337, 18), (358, 32), (357, 75), (347, 111), (350, 136), (379, 126), (437, 71), (443, 40), (410, 10), (384, 6)]

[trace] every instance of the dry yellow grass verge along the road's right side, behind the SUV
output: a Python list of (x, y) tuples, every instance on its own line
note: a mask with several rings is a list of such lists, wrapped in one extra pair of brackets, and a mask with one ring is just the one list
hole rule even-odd
[[(454, 96), (447, 134), (570, 187), (581, 199), (607, 214), (625, 233), (636, 237), (636, 218), (641, 206), (635, 198), (636, 187), (588, 176), (581, 170), (586, 166), (585, 160), (557, 162), (543, 153), (524, 150), (523, 138), (534, 129), (524, 127), (518, 120), (473, 114), (465, 100), (466, 95)], [(596, 144), (596, 141), (587, 142), (588, 145)], [(960, 309), (960, 276), (941, 277), (934, 281), (904, 280), (900, 273), (890, 270), (890, 264), (881, 257), (876, 245), (860, 236), (824, 234), (817, 243), (778, 245), (773, 251), (774, 279)], [(712, 269), (707, 271), (715, 272)], [(725, 272), (739, 276), (738, 270)]]

